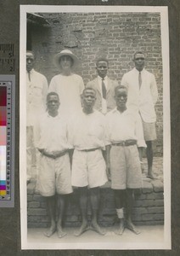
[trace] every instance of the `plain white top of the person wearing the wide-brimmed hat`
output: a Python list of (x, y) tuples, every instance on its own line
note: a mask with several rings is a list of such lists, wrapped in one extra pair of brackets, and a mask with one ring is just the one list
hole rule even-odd
[(48, 91), (58, 93), (60, 100), (59, 113), (69, 118), (70, 115), (82, 109), (81, 95), (83, 90), (82, 77), (77, 74), (71, 74), (70, 76), (59, 74), (51, 80)]

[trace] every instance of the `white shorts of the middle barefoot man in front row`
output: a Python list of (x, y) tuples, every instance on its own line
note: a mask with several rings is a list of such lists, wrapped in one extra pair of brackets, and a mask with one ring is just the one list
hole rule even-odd
[(108, 181), (106, 165), (101, 149), (74, 151), (71, 183), (75, 187), (96, 188)]

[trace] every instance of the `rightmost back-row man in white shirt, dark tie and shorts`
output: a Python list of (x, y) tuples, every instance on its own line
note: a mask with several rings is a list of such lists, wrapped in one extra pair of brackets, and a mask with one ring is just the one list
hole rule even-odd
[(148, 177), (154, 179), (152, 141), (156, 139), (155, 132), (155, 103), (158, 90), (155, 76), (144, 69), (145, 55), (139, 51), (133, 55), (135, 67), (125, 73), (121, 85), (127, 87), (127, 108), (138, 111), (143, 121), (143, 133), (147, 144)]

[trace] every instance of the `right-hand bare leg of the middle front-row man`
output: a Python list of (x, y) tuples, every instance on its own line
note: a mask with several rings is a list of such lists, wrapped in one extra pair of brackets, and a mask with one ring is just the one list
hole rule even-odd
[(101, 230), (100, 226), (98, 225), (98, 208), (100, 202), (100, 194), (99, 188), (90, 189), (90, 201), (91, 201), (91, 208), (92, 208), (92, 227), (93, 230), (98, 232), (100, 235), (105, 235), (104, 230)]

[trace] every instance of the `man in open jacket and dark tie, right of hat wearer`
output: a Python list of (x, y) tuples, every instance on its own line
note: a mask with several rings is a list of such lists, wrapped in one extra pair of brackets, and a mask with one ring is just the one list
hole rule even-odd
[(96, 102), (94, 108), (101, 113), (108, 113), (115, 108), (115, 86), (118, 83), (108, 78), (109, 61), (100, 58), (96, 62), (98, 77), (87, 83), (87, 87), (96, 90)]

